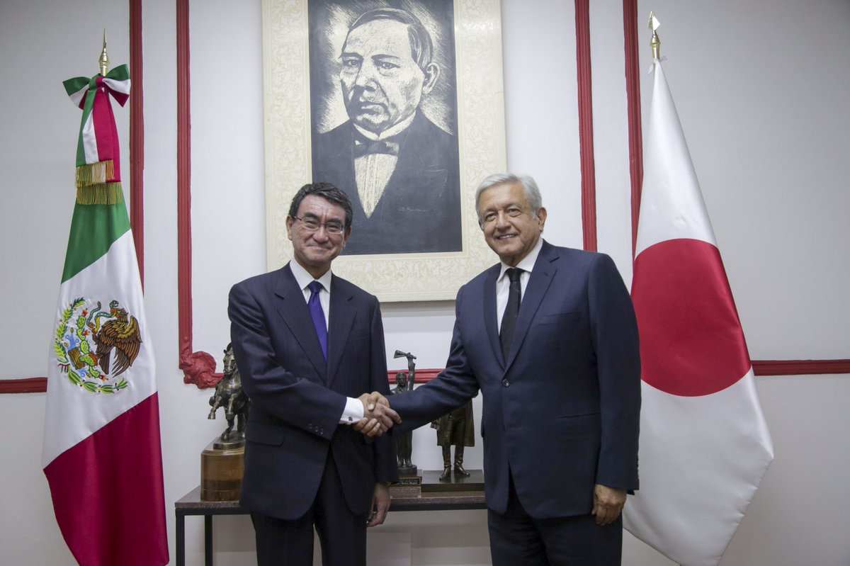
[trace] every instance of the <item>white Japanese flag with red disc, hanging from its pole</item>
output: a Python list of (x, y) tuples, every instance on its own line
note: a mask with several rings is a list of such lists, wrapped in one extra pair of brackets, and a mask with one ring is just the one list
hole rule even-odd
[(658, 59), (632, 301), (641, 488), (626, 529), (684, 566), (723, 558), (774, 458), (744, 332)]

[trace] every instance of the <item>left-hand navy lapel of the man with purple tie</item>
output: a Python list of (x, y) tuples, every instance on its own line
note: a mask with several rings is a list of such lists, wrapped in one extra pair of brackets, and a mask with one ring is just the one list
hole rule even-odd
[[(327, 376), (325, 354), (322, 354), (319, 337), (315, 333), (313, 319), (304, 300), (303, 291), (298, 288), (292, 270), (286, 265), (279, 271), (280, 276), (275, 283), (275, 308), (280, 319), (289, 327), (292, 336), (303, 349), (304, 354), (313, 364), (316, 373), (323, 378)], [(332, 295), (331, 295), (332, 297)], [(307, 330), (305, 330), (307, 329)]]

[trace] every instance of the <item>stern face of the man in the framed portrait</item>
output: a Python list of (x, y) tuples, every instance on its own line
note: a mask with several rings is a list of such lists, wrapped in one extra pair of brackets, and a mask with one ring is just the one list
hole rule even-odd
[(407, 25), (374, 20), (348, 32), (339, 81), (348, 116), (360, 127), (380, 133), (419, 106), (422, 93), (436, 81), (436, 68), (422, 71), (411, 52)]

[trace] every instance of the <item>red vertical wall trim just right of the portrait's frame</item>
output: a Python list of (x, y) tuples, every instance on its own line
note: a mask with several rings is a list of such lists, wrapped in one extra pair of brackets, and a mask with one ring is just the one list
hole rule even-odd
[(581, 155), (581, 227), (584, 235), (584, 249), (596, 252), (596, 164), (593, 153), (590, 0), (575, 0), (575, 63), (578, 75)]

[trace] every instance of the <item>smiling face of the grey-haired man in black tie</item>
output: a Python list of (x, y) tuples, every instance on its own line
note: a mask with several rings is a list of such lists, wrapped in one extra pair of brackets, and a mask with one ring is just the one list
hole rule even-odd
[(520, 184), (497, 184), (484, 190), (477, 208), (484, 240), (512, 267), (537, 245), (546, 224), (546, 209), (531, 210)]

